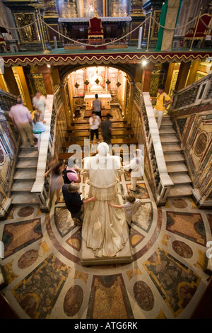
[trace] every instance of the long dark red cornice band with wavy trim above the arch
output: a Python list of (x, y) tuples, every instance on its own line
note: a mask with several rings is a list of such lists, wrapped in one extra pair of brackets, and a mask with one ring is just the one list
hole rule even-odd
[[(98, 51), (97, 51), (98, 52)], [(211, 57), (212, 52), (105, 52), (100, 53), (80, 53), (80, 54), (60, 54), (60, 55), (6, 55), (1, 56), (4, 66), (26, 66), (26, 65), (66, 65), (66, 64), (136, 64), (143, 60), (148, 62), (189, 62), (203, 61)]]

